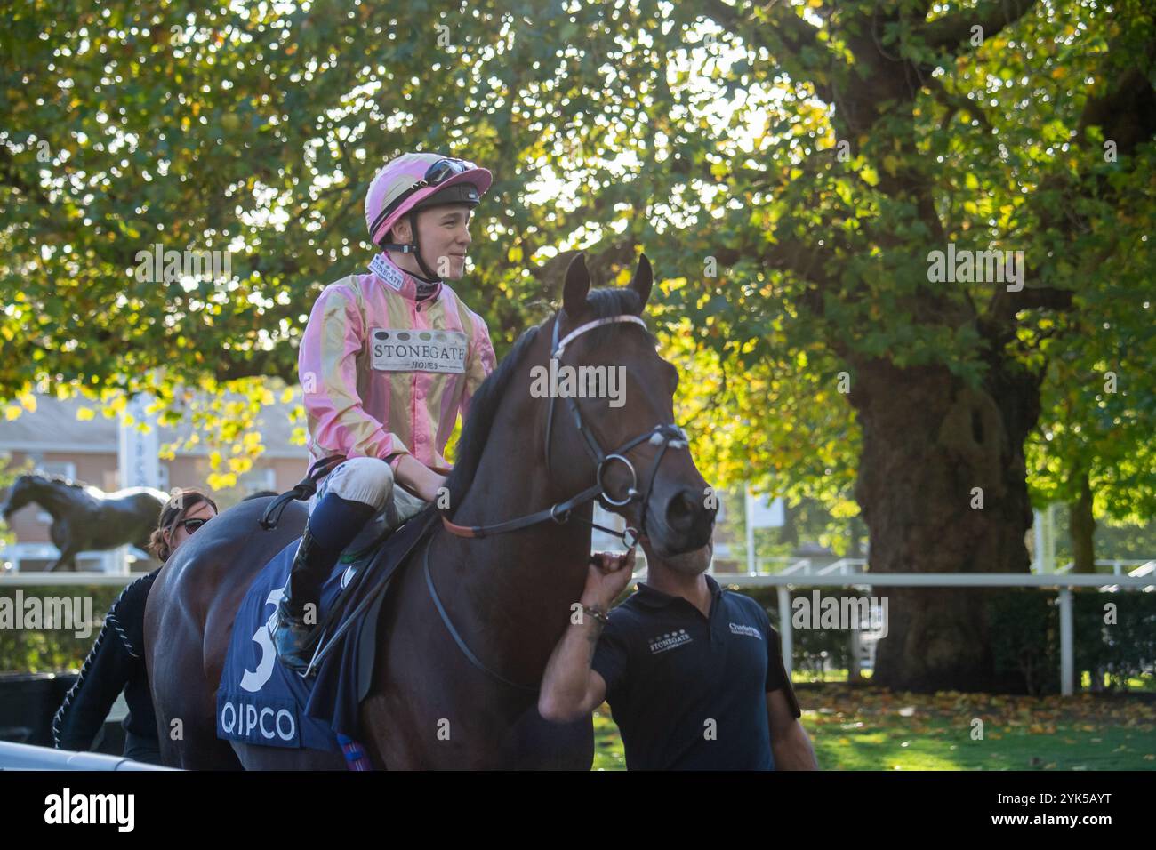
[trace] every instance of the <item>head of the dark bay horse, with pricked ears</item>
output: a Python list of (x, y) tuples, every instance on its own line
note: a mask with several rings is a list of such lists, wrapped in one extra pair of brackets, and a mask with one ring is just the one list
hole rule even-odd
[[(674, 424), (679, 370), (640, 320), (652, 283), (645, 256), (624, 288), (591, 290), (581, 254), (570, 263), (562, 310), (543, 326), (557, 355), (547, 458), (570, 494), (590, 486), (594, 468), (612, 509), (657, 553), (675, 555), (710, 540), (716, 508)], [(598, 468), (599, 450), (618, 457)]]

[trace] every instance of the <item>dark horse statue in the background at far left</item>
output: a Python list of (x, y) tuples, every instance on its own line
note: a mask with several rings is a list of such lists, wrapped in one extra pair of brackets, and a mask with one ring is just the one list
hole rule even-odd
[(47, 571), (62, 567), (75, 572), (80, 552), (104, 552), (125, 544), (144, 549), (168, 501), (168, 494), (151, 487), (105, 493), (59, 475), (21, 475), (0, 505), (0, 518), (8, 522), (24, 505), (40, 505), (52, 515), (49, 534), (60, 549)]

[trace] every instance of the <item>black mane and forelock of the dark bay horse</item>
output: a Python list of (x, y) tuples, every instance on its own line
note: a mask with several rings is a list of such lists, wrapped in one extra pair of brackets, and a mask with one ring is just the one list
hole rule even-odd
[[(592, 289), (586, 298), (594, 318), (599, 319), (623, 315), (638, 316), (643, 311), (638, 293), (629, 287)], [(458, 457), (445, 481), (451, 504), (461, 504), (461, 500), (465, 498), (466, 491), (473, 483), (477, 465), (482, 460), (482, 452), (489, 441), (494, 416), (497, 414), (498, 404), (510, 384), (510, 377), (518, 369), (518, 363), (525, 356), (526, 349), (538, 339), (544, 324), (546, 321), (527, 328), (513, 343), (510, 353), (502, 359), (498, 368), (490, 372), (489, 377), (477, 387), (477, 392), (474, 393), (474, 398), (469, 402), (469, 419), (462, 424), (461, 437), (458, 439)], [(614, 334), (621, 333), (628, 327), (633, 326), (614, 324), (596, 327), (590, 332), (588, 339), (592, 342), (607, 342)], [(650, 331), (646, 334), (652, 342), (658, 342)]]

